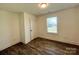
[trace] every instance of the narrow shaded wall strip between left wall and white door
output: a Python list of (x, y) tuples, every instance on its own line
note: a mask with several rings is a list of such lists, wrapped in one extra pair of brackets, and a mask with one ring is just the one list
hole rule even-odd
[(19, 14), (19, 27), (20, 27), (20, 39), (21, 42), (25, 43), (25, 26), (24, 26), (24, 13)]

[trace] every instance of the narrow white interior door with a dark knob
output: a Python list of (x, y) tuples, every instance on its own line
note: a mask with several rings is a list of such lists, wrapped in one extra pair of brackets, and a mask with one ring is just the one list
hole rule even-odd
[(25, 14), (25, 43), (31, 41), (31, 19), (28, 14)]

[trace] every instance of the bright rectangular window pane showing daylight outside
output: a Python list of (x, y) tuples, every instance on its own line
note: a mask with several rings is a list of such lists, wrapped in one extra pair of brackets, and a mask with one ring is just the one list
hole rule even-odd
[(47, 18), (47, 32), (57, 33), (57, 17)]

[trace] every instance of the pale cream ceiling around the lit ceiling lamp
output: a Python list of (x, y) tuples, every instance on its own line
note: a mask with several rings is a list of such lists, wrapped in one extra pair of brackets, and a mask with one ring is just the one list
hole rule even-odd
[(0, 9), (12, 12), (28, 12), (34, 15), (41, 15), (78, 5), (78, 3), (49, 3), (47, 8), (41, 9), (39, 8), (38, 3), (0, 3)]

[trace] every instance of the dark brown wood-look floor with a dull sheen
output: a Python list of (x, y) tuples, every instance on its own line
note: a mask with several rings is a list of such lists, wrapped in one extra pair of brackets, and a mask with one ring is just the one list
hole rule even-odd
[(38, 38), (28, 44), (18, 43), (0, 55), (79, 55), (79, 47)]

